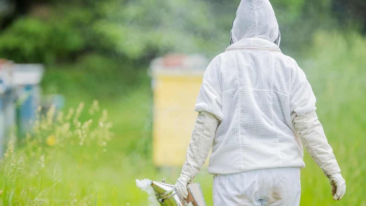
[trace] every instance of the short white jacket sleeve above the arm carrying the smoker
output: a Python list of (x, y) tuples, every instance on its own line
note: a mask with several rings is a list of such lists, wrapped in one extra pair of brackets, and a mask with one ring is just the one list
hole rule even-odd
[(216, 56), (216, 58), (211, 61), (203, 75), (195, 111), (206, 111), (215, 115), (220, 121), (223, 120), (219, 56)]

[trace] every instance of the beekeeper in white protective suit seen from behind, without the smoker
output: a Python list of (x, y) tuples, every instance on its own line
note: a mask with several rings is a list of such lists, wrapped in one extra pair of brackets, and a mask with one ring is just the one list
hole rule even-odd
[(315, 96), (296, 61), (282, 54), (268, 0), (242, 0), (231, 45), (209, 64), (187, 160), (176, 182), (186, 198), (209, 150), (214, 206), (299, 205), (303, 148), (329, 178), (333, 199), (345, 180), (315, 113)]

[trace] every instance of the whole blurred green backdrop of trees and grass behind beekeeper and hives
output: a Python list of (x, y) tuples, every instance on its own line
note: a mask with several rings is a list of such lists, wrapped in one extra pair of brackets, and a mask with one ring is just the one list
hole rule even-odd
[[(281, 49), (298, 61), (313, 86), (318, 115), (347, 182), (344, 198), (333, 201), (328, 180), (306, 154), (301, 205), (366, 205), (366, 3), (271, 3), (280, 25)], [(8, 173), (12, 160), (3, 160), (8, 170), (2, 170), (0, 205), (146, 206), (146, 194), (135, 187), (135, 179), (167, 177), (174, 183), (180, 168), (156, 168), (151, 162), (149, 62), (171, 52), (201, 53), (210, 59), (223, 52), (238, 4), (239, 0), (1, 0), (0, 57), (44, 63), (43, 92), (64, 95), (65, 114), (79, 102), (88, 108), (98, 99), (108, 110), (115, 135), (103, 147), (106, 152), (71, 140), (59, 147), (57, 137), (56, 145), (50, 146), (50, 134), (32, 137), (40, 140), (30, 151), (30, 144), (16, 142), (9, 157), (22, 160), (22, 166), (13, 168), (23, 170)], [(84, 111), (78, 119), (98, 118)], [(52, 125), (51, 135), (57, 127), (56, 122)], [(15, 180), (11, 186), (10, 179)], [(197, 181), (205, 183), (205, 198), (212, 205), (212, 177), (203, 170)]]

